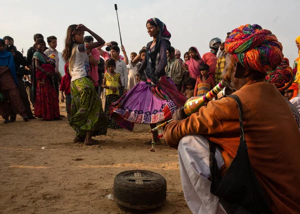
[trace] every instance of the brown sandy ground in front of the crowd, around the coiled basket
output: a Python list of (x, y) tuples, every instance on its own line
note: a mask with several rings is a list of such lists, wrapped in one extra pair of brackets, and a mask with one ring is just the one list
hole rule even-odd
[[(66, 115), (64, 103), (60, 112)], [(108, 129), (98, 145), (73, 144), (66, 118), (24, 122), (0, 119), (0, 213), (127, 213), (107, 198), (116, 174), (131, 169), (160, 173), (167, 198), (154, 213), (191, 213), (182, 193), (177, 151), (143, 142), (149, 125), (133, 132)], [(42, 147), (45, 147), (42, 149)]]

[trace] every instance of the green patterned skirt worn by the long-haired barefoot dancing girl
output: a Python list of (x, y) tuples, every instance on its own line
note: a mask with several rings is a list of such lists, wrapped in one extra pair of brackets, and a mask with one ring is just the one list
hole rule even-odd
[(84, 136), (86, 131), (92, 135), (106, 134), (107, 119), (103, 112), (102, 101), (93, 84), (87, 77), (71, 82), (71, 118), (69, 125), (76, 135)]

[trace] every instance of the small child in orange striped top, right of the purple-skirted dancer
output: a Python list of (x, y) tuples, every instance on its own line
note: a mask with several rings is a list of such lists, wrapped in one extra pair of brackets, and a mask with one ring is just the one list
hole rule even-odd
[(215, 86), (213, 78), (207, 74), (209, 65), (200, 64), (199, 70), (201, 75), (197, 77), (196, 85), (194, 88), (194, 96), (203, 96)]

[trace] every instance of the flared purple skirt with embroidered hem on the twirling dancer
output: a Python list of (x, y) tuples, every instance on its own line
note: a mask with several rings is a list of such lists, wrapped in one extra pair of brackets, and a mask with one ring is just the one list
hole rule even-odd
[(132, 131), (134, 123), (150, 124), (171, 119), (186, 99), (170, 78), (162, 76), (156, 86), (144, 81), (137, 83), (110, 105), (110, 115), (121, 127)]

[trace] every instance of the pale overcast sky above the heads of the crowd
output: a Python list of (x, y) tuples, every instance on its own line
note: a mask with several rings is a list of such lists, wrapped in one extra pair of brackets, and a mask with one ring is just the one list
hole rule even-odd
[(157, 17), (166, 24), (171, 45), (182, 57), (190, 46), (196, 46), (201, 55), (208, 52), (211, 38), (224, 40), (227, 31), (246, 23), (271, 30), (291, 63), (297, 57), (300, 0), (5, 0), (1, 2), (0, 37), (13, 37), (25, 55), (34, 33), (45, 39), (55, 35), (57, 50), (62, 51), (68, 25), (82, 23), (105, 41), (120, 43), (114, 3), (127, 54), (138, 52), (151, 40), (145, 23)]

